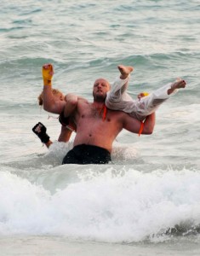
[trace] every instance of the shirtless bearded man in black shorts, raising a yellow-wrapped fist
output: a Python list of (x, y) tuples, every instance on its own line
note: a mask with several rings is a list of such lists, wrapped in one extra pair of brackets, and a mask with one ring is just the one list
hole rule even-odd
[[(51, 80), (54, 70), (51, 64), (43, 66), (43, 108), (51, 113), (71, 115), (77, 125), (77, 135), (63, 164), (106, 164), (111, 160), (112, 143), (123, 129), (138, 133), (140, 121), (121, 111), (106, 108), (106, 93), (110, 84), (106, 79), (94, 82), (94, 102), (71, 95), (66, 106), (52, 98)], [(155, 125), (155, 113), (146, 117), (142, 134), (151, 134)]]

